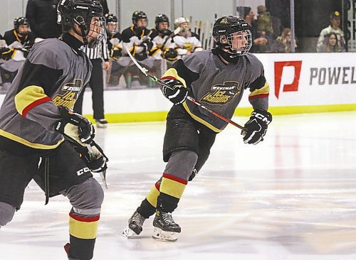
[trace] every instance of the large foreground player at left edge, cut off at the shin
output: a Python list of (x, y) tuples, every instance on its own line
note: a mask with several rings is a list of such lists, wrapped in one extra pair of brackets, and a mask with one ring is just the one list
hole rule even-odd
[[(0, 227), (20, 209), (24, 190), (34, 179), (46, 202), (59, 194), (70, 200), (70, 244), (65, 249), (68, 259), (86, 260), (93, 258), (104, 196), (90, 170), (106, 166), (99, 151), (85, 149), (85, 143), (92, 143), (93, 125), (69, 109), (90, 79), (92, 65), (83, 45), (99, 43), (105, 21), (97, 0), (61, 0), (58, 14), (63, 38), (33, 45), (1, 106)], [(93, 161), (85, 163), (63, 134), (81, 141), (85, 158)]]

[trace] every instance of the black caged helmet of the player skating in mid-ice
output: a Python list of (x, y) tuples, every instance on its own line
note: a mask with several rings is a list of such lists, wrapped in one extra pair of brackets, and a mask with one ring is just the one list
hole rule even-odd
[[(246, 43), (242, 46), (233, 47), (233, 37), (243, 34)], [(227, 50), (230, 55), (242, 56), (248, 53), (252, 46), (252, 35), (248, 24), (243, 18), (236, 16), (222, 16), (217, 19), (213, 26), (213, 37), (216, 48)]]

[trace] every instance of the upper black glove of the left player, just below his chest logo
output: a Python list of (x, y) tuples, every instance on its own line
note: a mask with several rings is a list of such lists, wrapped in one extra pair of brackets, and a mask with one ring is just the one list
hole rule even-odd
[(65, 133), (66, 124), (78, 126), (78, 137), (82, 143), (90, 143), (95, 136), (93, 124), (80, 114), (76, 114), (67, 107), (58, 107), (61, 112), (62, 120), (56, 124), (56, 131)]

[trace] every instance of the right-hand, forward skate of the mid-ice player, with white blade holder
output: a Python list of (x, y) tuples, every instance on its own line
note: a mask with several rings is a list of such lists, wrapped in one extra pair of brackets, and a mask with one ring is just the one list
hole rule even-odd
[(161, 241), (175, 242), (178, 239), (178, 233), (181, 232), (179, 225), (174, 222), (172, 213), (156, 211), (155, 220), (153, 220), (155, 231), (152, 238)]

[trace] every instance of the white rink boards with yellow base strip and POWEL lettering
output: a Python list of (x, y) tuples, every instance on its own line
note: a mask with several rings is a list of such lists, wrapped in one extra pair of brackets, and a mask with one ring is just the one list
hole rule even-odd
[[(256, 54), (270, 85), (273, 114), (356, 110), (356, 53)], [(171, 107), (159, 89), (106, 90), (109, 122), (162, 121)], [(4, 95), (0, 96), (0, 102)], [(85, 92), (83, 113), (93, 114), (91, 92)], [(214, 107), (212, 107), (214, 109)], [(248, 91), (236, 114), (251, 113)]]

